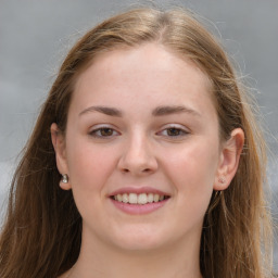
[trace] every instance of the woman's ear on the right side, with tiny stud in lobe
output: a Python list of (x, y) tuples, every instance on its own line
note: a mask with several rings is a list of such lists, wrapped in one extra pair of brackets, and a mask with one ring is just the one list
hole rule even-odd
[(235, 177), (240, 154), (244, 144), (244, 132), (241, 128), (231, 131), (230, 138), (223, 143), (217, 173), (215, 175), (214, 190), (225, 190)]

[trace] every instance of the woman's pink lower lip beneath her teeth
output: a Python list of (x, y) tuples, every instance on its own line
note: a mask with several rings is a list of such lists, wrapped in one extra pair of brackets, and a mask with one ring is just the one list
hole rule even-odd
[(165, 199), (163, 201), (156, 202), (156, 203), (147, 203), (147, 204), (129, 204), (129, 203), (123, 203), (115, 201), (114, 199), (111, 199), (113, 204), (119, 208), (124, 213), (134, 214), (134, 215), (140, 215), (140, 214), (148, 214), (152, 213), (162, 206), (166, 204), (166, 202), (169, 199)]

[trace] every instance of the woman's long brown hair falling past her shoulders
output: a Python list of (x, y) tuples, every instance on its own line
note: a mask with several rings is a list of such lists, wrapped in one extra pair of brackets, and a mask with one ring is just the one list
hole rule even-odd
[(56, 123), (65, 131), (75, 81), (96, 55), (146, 42), (161, 43), (190, 59), (210, 77), (222, 140), (237, 127), (245, 134), (238, 172), (227, 190), (213, 192), (204, 217), (201, 273), (214, 278), (268, 277), (263, 264), (266, 256), (261, 255), (261, 244), (265, 243), (266, 254), (271, 238), (263, 192), (265, 143), (250, 100), (226, 53), (192, 13), (137, 9), (88, 31), (64, 60), (14, 174), (0, 238), (1, 278), (56, 277), (76, 262), (81, 217), (72, 192), (59, 187), (50, 126)]

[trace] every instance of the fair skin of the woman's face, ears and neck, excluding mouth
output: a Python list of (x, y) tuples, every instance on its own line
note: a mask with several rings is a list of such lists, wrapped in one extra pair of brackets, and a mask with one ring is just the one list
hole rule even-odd
[[(101, 54), (80, 75), (65, 137), (51, 126), (58, 168), (70, 177), (61, 187), (73, 190), (84, 228), (79, 258), (62, 277), (201, 277), (203, 217), (213, 189), (229, 186), (244, 137), (235, 129), (220, 142), (210, 89), (194, 64), (155, 43)], [(186, 109), (155, 114), (162, 106)], [(110, 198), (125, 187), (170, 198), (130, 215)]]

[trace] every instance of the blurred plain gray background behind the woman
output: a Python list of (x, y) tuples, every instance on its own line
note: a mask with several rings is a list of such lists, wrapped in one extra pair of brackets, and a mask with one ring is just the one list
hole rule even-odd
[[(0, 207), (7, 202), (18, 153), (71, 46), (103, 18), (150, 2), (0, 0)], [(163, 7), (184, 5), (201, 14), (208, 28), (222, 37), (226, 50), (252, 88), (266, 124), (270, 149), (268, 176), (275, 193), (271, 207), (276, 218), (278, 0), (152, 2)]]

